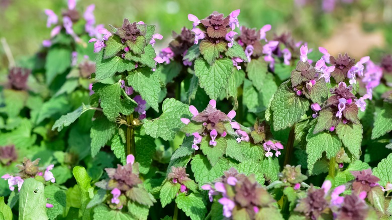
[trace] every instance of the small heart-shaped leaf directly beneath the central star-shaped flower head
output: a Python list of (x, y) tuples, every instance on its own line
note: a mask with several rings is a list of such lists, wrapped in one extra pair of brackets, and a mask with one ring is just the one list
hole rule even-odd
[(218, 137), (216, 139), (217, 145), (210, 145), (211, 138), (204, 137), (202, 142), (200, 143), (200, 150), (203, 151), (203, 154), (207, 156), (212, 166), (215, 166), (218, 161), (223, 157), (226, 152), (227, 143), (226, 138)]

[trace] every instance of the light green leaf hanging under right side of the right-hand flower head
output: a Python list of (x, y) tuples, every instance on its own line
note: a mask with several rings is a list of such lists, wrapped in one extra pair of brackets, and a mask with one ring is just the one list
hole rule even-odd
[(336, 134), (347, 148), (350, 158), (358, 159), (361, 155), (362, 125), (339, 123), (335, 128)]

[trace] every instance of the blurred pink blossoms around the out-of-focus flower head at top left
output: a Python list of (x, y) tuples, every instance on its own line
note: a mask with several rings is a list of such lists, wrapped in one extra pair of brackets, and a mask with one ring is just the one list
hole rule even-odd
[[(73, 25), (80, 20), (80, 14), (75, 8), (76, 1), (68, 0), (68, 9), (62, 13), (63, 20), (62, 24), (59, 25), (57, 25), (59, 23), (57, 15), (50, 9), (45, 10), (45, 14), (48, 16), (46, 27), (50, 28), (52, 25), (57, 25), (50, 33), (51, 39), (64, 29), (65, 33), (72, 36), (76, 42), (81, 42), (79, 36), (73, 30)], [(90, 37), (101, 38), (104, 25), (95, 25), (95, 17), (93, 14), (94, 9), (95, 5), (89, 5), (83, 14), (83, 18), (85, 20), (84, 31)], [(44, 47), (50, 47), (52, 45), (52, 40), (44, 40), (42, 44)]]

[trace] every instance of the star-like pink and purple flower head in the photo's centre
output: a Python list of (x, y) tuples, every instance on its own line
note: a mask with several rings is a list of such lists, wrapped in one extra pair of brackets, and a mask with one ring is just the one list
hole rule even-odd
[(181, 122), (185, 125), (192, 123), (198, 126), (197, 131), (191, 133), (191, 135), (194, 136), (192, 148), (195, 150), (199, 150), (198, 144), (202, 142), (203, 137), (210, 136), (211, 139), (209, 144), (216, 146), (218, 135), (221, 137), (226, 137), (227, 135), (226, 126), (236, 116), (236, 112), (232, 110), (226, 115), (218, 110), (216, 106), (217, 102), (212, 99), (207, 105), (207, 108), (199, 113), (198, 109), (193, 105), (190, 105), (189, 111), (193, 115), (191, 120), (181, 118)]

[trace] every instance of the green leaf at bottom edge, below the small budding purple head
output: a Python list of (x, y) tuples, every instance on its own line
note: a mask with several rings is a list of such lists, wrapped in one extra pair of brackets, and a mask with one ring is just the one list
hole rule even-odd
[(185, 195), (185, 193), (178, 193), (175, 203), (192, 220), (202, 220), (207, 213), (205, 201), (200, 194), (190, 193)]

